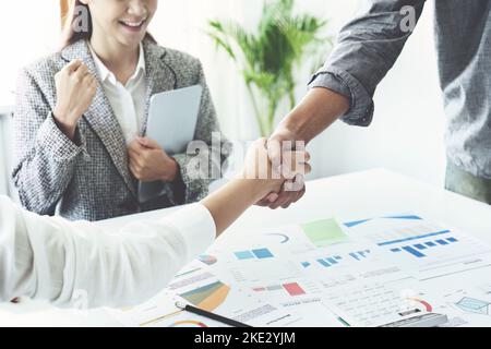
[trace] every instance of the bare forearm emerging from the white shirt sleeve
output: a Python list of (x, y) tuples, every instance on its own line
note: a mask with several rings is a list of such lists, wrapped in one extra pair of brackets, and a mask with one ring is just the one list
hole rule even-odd
[[(202, 201), (215, 220), (217, 237), (270, 192), (267, 182), (266, 180), (236, 179)], [(268, 185), (271, 186), (271, 183)]]

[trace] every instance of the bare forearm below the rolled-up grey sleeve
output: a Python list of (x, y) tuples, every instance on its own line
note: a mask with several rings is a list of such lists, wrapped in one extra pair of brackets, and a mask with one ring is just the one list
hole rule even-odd
[(296, 141), (309, 143), (349, 109), (349, 99), (327, 88), (312, 88), (303, 100), (279, 124)]

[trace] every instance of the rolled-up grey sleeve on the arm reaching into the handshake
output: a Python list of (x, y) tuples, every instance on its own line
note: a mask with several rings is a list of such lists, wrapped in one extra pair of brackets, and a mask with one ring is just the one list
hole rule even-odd
[(310, 88), (324, 87), (350, 99), (343, 116), (348, 124), (368, 127), (374, 112), (376, 86), (400, 55), (426, 0), (370, 0), (361, 14), (345, 25), (338, 44), (311, 79)]

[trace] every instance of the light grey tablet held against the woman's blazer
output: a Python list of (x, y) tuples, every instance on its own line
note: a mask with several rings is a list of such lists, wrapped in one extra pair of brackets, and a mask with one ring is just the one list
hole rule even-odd
[[(203, 87), (195, 85), (152, 96), (145, 136), (170, 156), (185, 153), (194, 140), (202, 94)], [(164, 188), (161, 181), (140, 182), (140, 203), (160, 196)]]

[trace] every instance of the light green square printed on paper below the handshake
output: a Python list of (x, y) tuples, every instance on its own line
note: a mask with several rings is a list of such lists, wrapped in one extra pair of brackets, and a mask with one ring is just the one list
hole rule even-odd
[(348, 240), (335, 219), (312, 221), (301, 227), (309, 240), (318, 248), (325, 248)]

